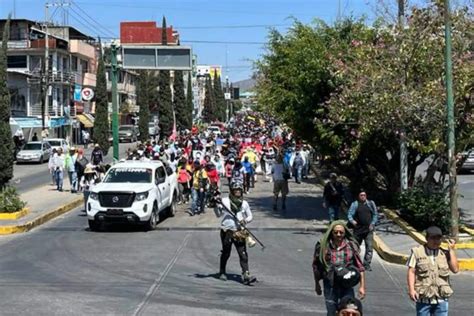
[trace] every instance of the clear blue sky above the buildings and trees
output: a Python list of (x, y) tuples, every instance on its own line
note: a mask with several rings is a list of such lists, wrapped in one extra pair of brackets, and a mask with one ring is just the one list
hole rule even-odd
[[(67, 2), (67, 0), (63, 0)], [(0, 0), (0, 16), (44, 20), (44, 0)], [(60, 0), (48, 0), (49, 3)], [(157, 21), (164, 15), (180, 33), (183, 44), (193, 47), (199, 64), (224, 67), (235, 82), (252, 74), (252, 60), (264, 52), (268, 26), (284, 32), (290, 17), (308, 23), (315, 18), (333, 22), (338, 15), (373, 17), (380, 0), (70, 0), (69, 24), (91, 36), (119, 36), (121, 21)], [(390, 0), (386, 2), (395, 2)], [(340, 3), (340, 6), (339, 6)], [(55, 8), (49, 9), (50, 15)], [(54, 20), (62, 21), (57, 9)], [(88, 22), (88, 23), (87, 23)], [(200, 43), (202, 41), (218, 43)], [(236, 44), (235, 42), (241, 42)], [(242, 43), (243, 42), (243, 43)], [(227, 69), (225, 66), (228, 66)]]

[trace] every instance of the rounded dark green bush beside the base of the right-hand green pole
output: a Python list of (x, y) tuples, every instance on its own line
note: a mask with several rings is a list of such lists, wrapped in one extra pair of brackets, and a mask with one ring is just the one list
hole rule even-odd
[(446, 193), (425, 192), (420, 187), (409, 188), (398, 196), (400, 216), (419, 231), (436, 225), (443, 233), (451, 228), (451, 216)]

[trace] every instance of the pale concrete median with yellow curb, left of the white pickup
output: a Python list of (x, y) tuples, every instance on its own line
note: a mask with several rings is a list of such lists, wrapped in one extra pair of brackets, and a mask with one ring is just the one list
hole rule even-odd
[(52, 185), (36, 187), (22, 193), (20, 197), (27, 203), (28, 214), (16, 220), (1, 220), (0, 235), (29, 231), (83, 204), (82, 194), (58, 192)]

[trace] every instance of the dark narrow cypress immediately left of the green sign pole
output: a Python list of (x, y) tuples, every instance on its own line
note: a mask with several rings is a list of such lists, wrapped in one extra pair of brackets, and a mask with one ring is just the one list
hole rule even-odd
[(107, 95), (107, 80), (105, 77), (105, 65), (102, 54), (99, 56), (96, 82), (94, 139), (95, 142), (99, 144), (102, 151), (107, 154), (110, 147), (109, 101)]

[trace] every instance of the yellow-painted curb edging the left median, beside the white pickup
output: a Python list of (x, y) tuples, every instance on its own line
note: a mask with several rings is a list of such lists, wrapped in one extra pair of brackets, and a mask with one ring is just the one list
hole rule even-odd
[(52, 211), (47, 211), (45, 214), (42, 214), (35, 219), (26, 222), (25, 224), (21, 225), (10, 225), (10, 226), (0, 226), (0, 235), (10, 235), (10, 234), (17, 234), (17, 233), (24, 233), (27, 232), (36, 226), (42, 225), (50, 220), (52, 220), (55, 217), (58, 217), (59, 215), (62, 215), (64, 213), (67, 213), (71, 211), (72, 209), (82, 205), (84, 202), (83, 197), (77, 197), (73, 201), (64, 204)]

